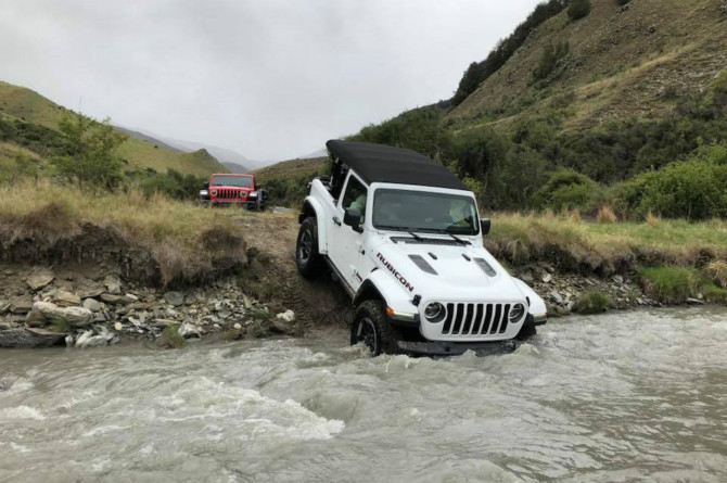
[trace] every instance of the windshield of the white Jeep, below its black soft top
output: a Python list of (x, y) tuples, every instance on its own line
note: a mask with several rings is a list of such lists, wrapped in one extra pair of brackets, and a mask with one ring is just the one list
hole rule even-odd
[(373, 227), (381, 230), (477, 234), (474, 200), (448, 193), (379, 189), (373, 199)]

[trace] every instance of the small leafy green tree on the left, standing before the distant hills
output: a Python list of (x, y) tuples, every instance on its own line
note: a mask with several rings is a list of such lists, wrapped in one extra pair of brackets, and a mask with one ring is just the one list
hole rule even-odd
[(51, 160), (59, 176), (79, 186), (113, 188), (122, 178), (124, 162), (116, 154), (126, 135), (114, 129), (109, 119), (98, 123), (81, 114), (59, 122), (62, 155)]

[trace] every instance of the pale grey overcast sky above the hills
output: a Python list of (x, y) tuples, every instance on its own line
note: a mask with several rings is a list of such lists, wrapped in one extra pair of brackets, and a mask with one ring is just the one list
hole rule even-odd
[(0, 79), (253, 160), (449, 98), (538, 0), (2, 0)]

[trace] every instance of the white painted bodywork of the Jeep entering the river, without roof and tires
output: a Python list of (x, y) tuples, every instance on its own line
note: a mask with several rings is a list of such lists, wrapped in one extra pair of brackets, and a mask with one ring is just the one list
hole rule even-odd
[[(355, 175), (349, 170), (347, 176)], [(368, 187), (367, 213), (373, 213), (375, 191), (380, 188), (473, 198), (469, 191), (372, 183)], [(306, 201), (314, 206), (318, 218), (319, 252), (328, 255), (347, 285), (346, 289), (356, 293), (369, 280), (396, 314), (409, 315), (412, 319), (418, 316), (421, 335), (430, 341), (487, 342), (513, 339), (525, 317), (507, 323), (503, 319), (505, 310), (509, 309), (506, 307), (515, 304), (523, 304), (526, 312), (536, 317), (546, 317), (543, 300), (524, 282), (507, 272), (484, 247), (481, 234), (458, 236), (469, 242), (462, 245), (447, 234), (419, 232), (417, 234), (420, 237), (435, 241), (420, 243), (414, 242), (407, 232), (374, 228), (371, 216), (366, 217), (361, 226), (364, 231), (359, 233), (343, 224), (341, 200), (334, 201), (318, 179), (313, 181)], [(436, 275), (420, 268), (410, 258), (411, 255), (422, 257)], [(482, 260), (492, 268), (489, 274), (480, 265)], [(414, 304), (417, 296), (418, 305)], [(448, 316), (437, 323), (428, 321), (423, 313), (431, 302), (451, 307), (452, 317)], [(487, 305), (490, 305), (492, 313), (487, 312)], [(498, 314), (499, 317), (496, 317)], [(459, 326), (458, 317), (461, 317)]]

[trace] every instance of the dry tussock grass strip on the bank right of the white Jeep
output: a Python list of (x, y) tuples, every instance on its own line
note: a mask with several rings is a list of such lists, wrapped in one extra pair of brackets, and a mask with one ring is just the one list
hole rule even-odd
[(574, 221), (570, 215), (496, 213), (485, 244), (514, 265), (546, 260), (561, 269), (608, 275), (638, 265), (696, 266), (727, 258), (727, 221)]

